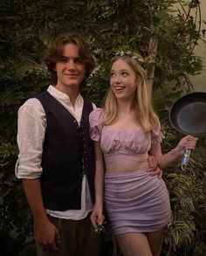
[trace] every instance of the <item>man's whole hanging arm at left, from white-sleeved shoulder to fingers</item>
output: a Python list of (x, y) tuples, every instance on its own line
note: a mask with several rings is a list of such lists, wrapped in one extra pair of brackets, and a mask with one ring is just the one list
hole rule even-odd
[(18, 110), (16, 176), (23, 180), (24, 192), (34, 219), (37, 242), (45, 250), (56, 250), (57, 229), (49, 222), (43, 204), (39, 177), (45, 140), (45, 111), (39, 100), (27, 100)]

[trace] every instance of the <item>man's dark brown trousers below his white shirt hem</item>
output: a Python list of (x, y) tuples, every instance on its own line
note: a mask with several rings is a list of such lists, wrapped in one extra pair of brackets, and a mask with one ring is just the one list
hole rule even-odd
[(61, 236), (58, 252), (48, 252), (36, 244), (37, 256), (98, 256), (100, 235), (93, 231), (89, 216), (80, 220), (53, 218)]

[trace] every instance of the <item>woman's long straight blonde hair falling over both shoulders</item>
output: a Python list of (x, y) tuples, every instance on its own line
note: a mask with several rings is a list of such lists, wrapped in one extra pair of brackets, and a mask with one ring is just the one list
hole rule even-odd
[[(137, 59), (133, 59), (132, 56), (128, 55), (115, 56), (111, 61), (110, 69), (112, 68), (113, 63), (118, 59), (124, 60), (127, 65), (131, 66), (136, 74), (136, 78), (139, 80), (131, 108), (136, 114), (138, 124), (141, 126), (142, 130), (147, 133), (154, 128), (154, 125), (158, 122), (158, 117), (154, 113), (151, 99), (148, 94), (147, 73)], [(117, 114), (117, 99), (110, 87), (106, 93), (104, 103), (104, 125), (113, 124), (117, 120)]]

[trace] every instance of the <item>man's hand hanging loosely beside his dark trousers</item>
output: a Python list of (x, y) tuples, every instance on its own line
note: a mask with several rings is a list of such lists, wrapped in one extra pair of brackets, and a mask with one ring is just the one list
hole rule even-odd
[(44, 225), (36, 225), (37, 241), (45, 251), (58, 251), (60, 234), (55, 225), (47, 222)]

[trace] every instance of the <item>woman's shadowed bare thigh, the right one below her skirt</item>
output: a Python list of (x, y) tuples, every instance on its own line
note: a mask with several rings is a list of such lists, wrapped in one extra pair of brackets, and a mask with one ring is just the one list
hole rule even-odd
[(153, 256), (160, 256), (161, 254), (161, 245), (165, 237), (165, 229), (157, 232), (147, 233), (148, 243), (152, 251)]

